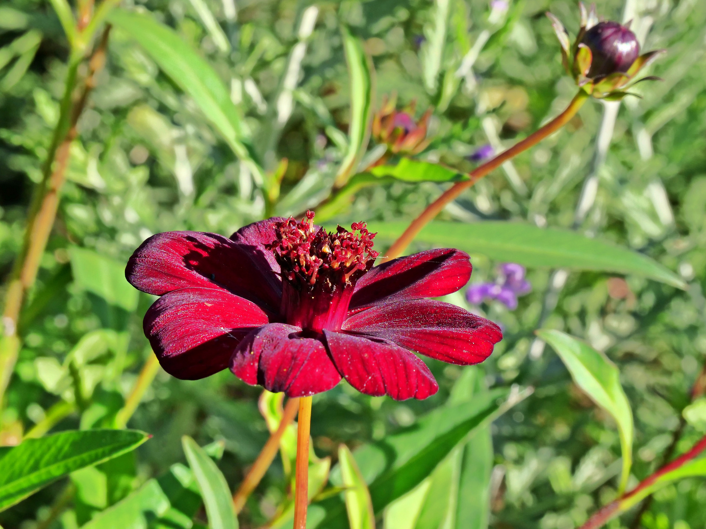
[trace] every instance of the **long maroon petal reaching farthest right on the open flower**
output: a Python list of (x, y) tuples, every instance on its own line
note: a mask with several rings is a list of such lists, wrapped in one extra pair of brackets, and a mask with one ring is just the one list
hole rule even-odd
[(433, 300), (375, 305), (349, 317), (342, 328), (460, 365), (482, 362), (493, 352), (493, 344), (503, 339), (493, 322)]

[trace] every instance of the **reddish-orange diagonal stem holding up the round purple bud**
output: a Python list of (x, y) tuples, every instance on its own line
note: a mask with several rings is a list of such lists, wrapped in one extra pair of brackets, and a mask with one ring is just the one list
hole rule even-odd
[(517, 154), (520, 154), (520, 152), (523, 152), (530, 147), (534, 147), (534, 145), (537, 145), (537, 143), (544, 140), (544, 138), (555, 133), (561, 127), (566, 125), (566, 123), (568, 123), (571, 118), (576, 115), (578, 109), (582, 107), (589, 97), (590, 96), (584, 90), (579, 90), (578, 94), (571, 100), (568, 107), (566, 107), (561, 114), (556, 116), (556, 118), (552, 119), (542, 128), (527, 136), (524, 140), (517, 142), (513, 145), (513, 147), (501, 152), (493, 159), (471, 171), (468, 175), (468, 180), (455, 183), (448, 190), (445, 190), (440, 197), (431, 202), (431, 204), (427, 206), (423, 212), (421, 212), (419, 217), (412, 221), (412, 224), (407, 226), (405, 233), (402, 233), (400, 238), (397, 238), (397, 241), (390, 246), (385, 257), (382, 258), (383, 262), (402, 255), (402, 252), (405, 251), (407, 245), (414, 240), (414, 237), (419, 234), (421, 229), (424, 228), (424, 226), (426, 226), (426, 224), (429, 223), (434, 217), (436, 217), (445, 205), (452, 200), (455, 200), (461, 193), (463, 193), (463, 191), (473, 186), (474, 183), (479, 181), (494, 169), (497, 169), (509, 159), (512, 159), (517, 156)]

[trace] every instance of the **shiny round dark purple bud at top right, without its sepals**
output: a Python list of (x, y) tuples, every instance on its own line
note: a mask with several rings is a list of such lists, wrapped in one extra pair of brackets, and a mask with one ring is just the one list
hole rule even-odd
[(581, 39), (593, 54), (588, 77), (626, 72), (640, 55), (635, 33), (617, 22), (600, 22)]

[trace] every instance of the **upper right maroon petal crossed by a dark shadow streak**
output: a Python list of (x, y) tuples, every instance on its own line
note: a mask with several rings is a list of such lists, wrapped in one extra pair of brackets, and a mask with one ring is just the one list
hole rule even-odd
[(373, 267), (355, 287), (350, 309), (417, 298), (436, 298), (457, 291), (471, 277), (468, 254), (441, 248), (399, 257)]

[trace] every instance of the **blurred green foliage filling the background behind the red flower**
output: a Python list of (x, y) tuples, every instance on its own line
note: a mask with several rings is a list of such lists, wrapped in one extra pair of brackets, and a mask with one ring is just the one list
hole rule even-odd
[[(318, 11), (307, 33), (302, 18), (311, 5)], [(170, 78), (133, 35), (112, 30), (107, 66), (78, 122), (54, 231), (20, 318), (22, 349), (0, 417), (0, 444), (16, 443), (33, 427), (114, 426), (152, 354), (141, 327), (152, 298), (133, 291), (121, 275), (145, 238), (178, 229), (229, 235), (270, 212), (300, 214), (328, 195), (341, 162), (362, 159), (363, 166), (381, 156), (374, 142), (365, 154), (349, 155), (349, 125), (361, 117), (352, 116), (359, 94), (350, 89), (342, 24), (360, 39), (374, 72), (373, 109), (393, 92), (400, 104), (416, 101), (419, 114), (433, 107), (431, 145), (417, 159), (441, 162), (454, 177), (474, 167), (467, 156), (477, 147), (508, 147), (566, 107), (575, 90), (562, 75), (544, 17), (551, 9), (575, 31), (578, 10), (570, 0), (126, 0), (122, 8), (169, 26), (213, 68), (229, 97), (223, 104), (232, 104), (247, 131), (246, 156), (185, 92), (186, 80)], [(385, 446), (444, 413), (461, 420), (449, 411), (474, 394), (534, 387), (532, 396), (433, 463), (431, 475), (387, 511), (376, 504), (378, 527), (572, 529), (616, 497), (616, 425), (572, 382), (554, 351), (535, 341), (539, 327), (578, 336), (618, 366), (635, 420), (628, 488), (659, 466), (678, 428), (677, 453), (702, 435), (702, 402), (689, 404), (706, 358), (706, 3), (604, 0), (598, 11), (632, 19), (644, 49), (667, 50), (651, 71), (664, 80), (635, 87), (641, 99), (625, 99), (614, 123), (609, 117), (617, 107), (589, 102), (561, 132), (448, 205), (440, 220), (568, 229), (582, 183), (594, 178), (597, 194), (580, 233), (652, 257), (688, 287), (600, 271), (570, 272), (563, 284), (549, 268), (530, 268), (533, 291), (517, 310), (496, 302), (471, 308), (503, 326), (505, 338), (489, 360), (465, 368), (428, 360), (441, 387), (436, 396), (397, 403), (361, 395), (345, 382), (316, 396), (313, 448), (337, 461), (340, 443)], [(294, 54), (298, 44), (305, 44), (303, 55)], [(49, 3), (0, 6), (3, 278), (20, 248), (59, 119), (68, 54)], [(290, 72), (294, 81), (286, 80)], [(607, 149), (597, 143), (599, 135)], [(364, 140), (357, 135), (357, 145)], [(273, 201), (268, 182), (277, 178)], [(327, 209), (327, 217), (340, 224), (404, 223), (446, 186), (379, 178)], [(433, 241), (417, 244), (412, 249)], [(492, 280), (498, 262), (471, 253), (472, 282)], [(466, 306), (462, 293), (448, 301)], [(201, 527), (205, 511), (183, 464), (181, 437), (200, 445), (225, 442), (218, 466), (234, 490), (268, 438), (260, 394), (229, 372), (196, 382), (160, 372), (129, 422), (150, 432), (150, 442), (0, 513), (0, 525), (118, 527), (101, 523), (119, 523), (113, 513), (139, 511), (143, 521), (136, 523), (143, 525), (135, 526)], [(59, 414), (54, 425), (57, 410), (71, 413)], [(277, 458), (239, 516), (241, 526), (279, 519), (290, 466)], [(384, 470), (359, 466), (369, 484)], [(335, 476), (334, 468), (332, 483)], [(338, 501), (337, 523), (345, 525), (333, 486), (314, 499), (310, 519), (325, 520), (325, 506)], [(334, 496), (325, 498), (327, 491)], [(119, 504), (125, 498), (135, 507)], [(654, 500), (645, 528), (705, 527), (702, 478), (670, 484)], [(628, 527), (633, 516), (609, 526)], [(52, 523), (44, 524), (49, 517)]]

